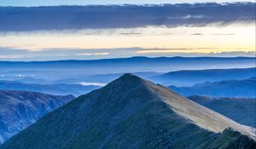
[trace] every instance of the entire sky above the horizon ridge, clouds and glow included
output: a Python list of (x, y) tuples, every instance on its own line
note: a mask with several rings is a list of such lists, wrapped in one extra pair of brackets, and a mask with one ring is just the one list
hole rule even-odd
[[(255, 56), (255, 3), (29, 8), (131, 3), (40, 2), (0, 1), (1, 6), (27, 7), (0, 8), (0, 60)], [(146, 2), (156, 3), (132, 4)], [(156, 4), (177, 2), (182, 3)]]

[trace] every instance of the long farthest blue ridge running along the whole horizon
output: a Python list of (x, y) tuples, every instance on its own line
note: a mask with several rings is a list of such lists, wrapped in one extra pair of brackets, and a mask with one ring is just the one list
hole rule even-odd
[[(241, 61), (244, 62), (241, 64)], [(247, 66), (252, 65), (255, 61), (254, 57), (157, 57), (157, 58), (149, 58), (149, 57), (130, 57), (130, 58), (117, 58), (117, 59), (101, 59), (101, 60), (52, 60), (52, 61), (0, 61), (1, 67), (9, 67), (9, 66), (30, 66), (35, 68), (51, 67), (51, 66), (84, 66), (87, 65), (92, 66), (121, 66), (128, 65), (131, 66), (144, 66), (145, 64), (154, 64), (154, 66), (160, 66), (161, 64), (169, 65), (169, 64), (177, 64), (181, 66), (181, 64), (187, 64), (188, 66), (193, 66), (195, 64), (199, 66), (207, 66), (209, 67), (218, 67), (222, 64), (222, 67), (229, 67), (228, 65), (237, 64), (238, 66)], [(204, 62), (204, 63), (200, 63)], [(9, 66), (6, 66), (9, 64)], [(38, 64), (40, 66), (38, 66)], [(215, 64), (215, 65), (214, 65)], [(221, 65), (220, 65), (221, 66)], [(172, 66), (170, 66), (172, 68)], [(177, 66), (173, 66), (177, 67)], [(139, 72), (139, 71), (137, 71)]]

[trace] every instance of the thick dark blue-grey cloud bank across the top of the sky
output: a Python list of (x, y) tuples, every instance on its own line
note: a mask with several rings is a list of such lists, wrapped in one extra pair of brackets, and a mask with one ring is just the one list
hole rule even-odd
[(0, 31), (206, 26), (255, 20), (255, 3), (0, 7)]

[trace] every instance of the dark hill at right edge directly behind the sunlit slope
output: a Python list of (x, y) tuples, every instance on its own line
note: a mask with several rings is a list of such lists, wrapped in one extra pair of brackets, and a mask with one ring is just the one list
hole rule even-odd
[(193, 95), (188, 97), (196, 103), (206, 106), (225, 117), (247, 126), (256, 128), (256, 100), (247, 98), (212, 98)]

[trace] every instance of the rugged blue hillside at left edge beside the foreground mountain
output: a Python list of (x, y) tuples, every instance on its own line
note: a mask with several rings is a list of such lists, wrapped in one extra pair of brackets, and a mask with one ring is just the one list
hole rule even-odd
[(0, 90), (0, 144), (74, 98)]

